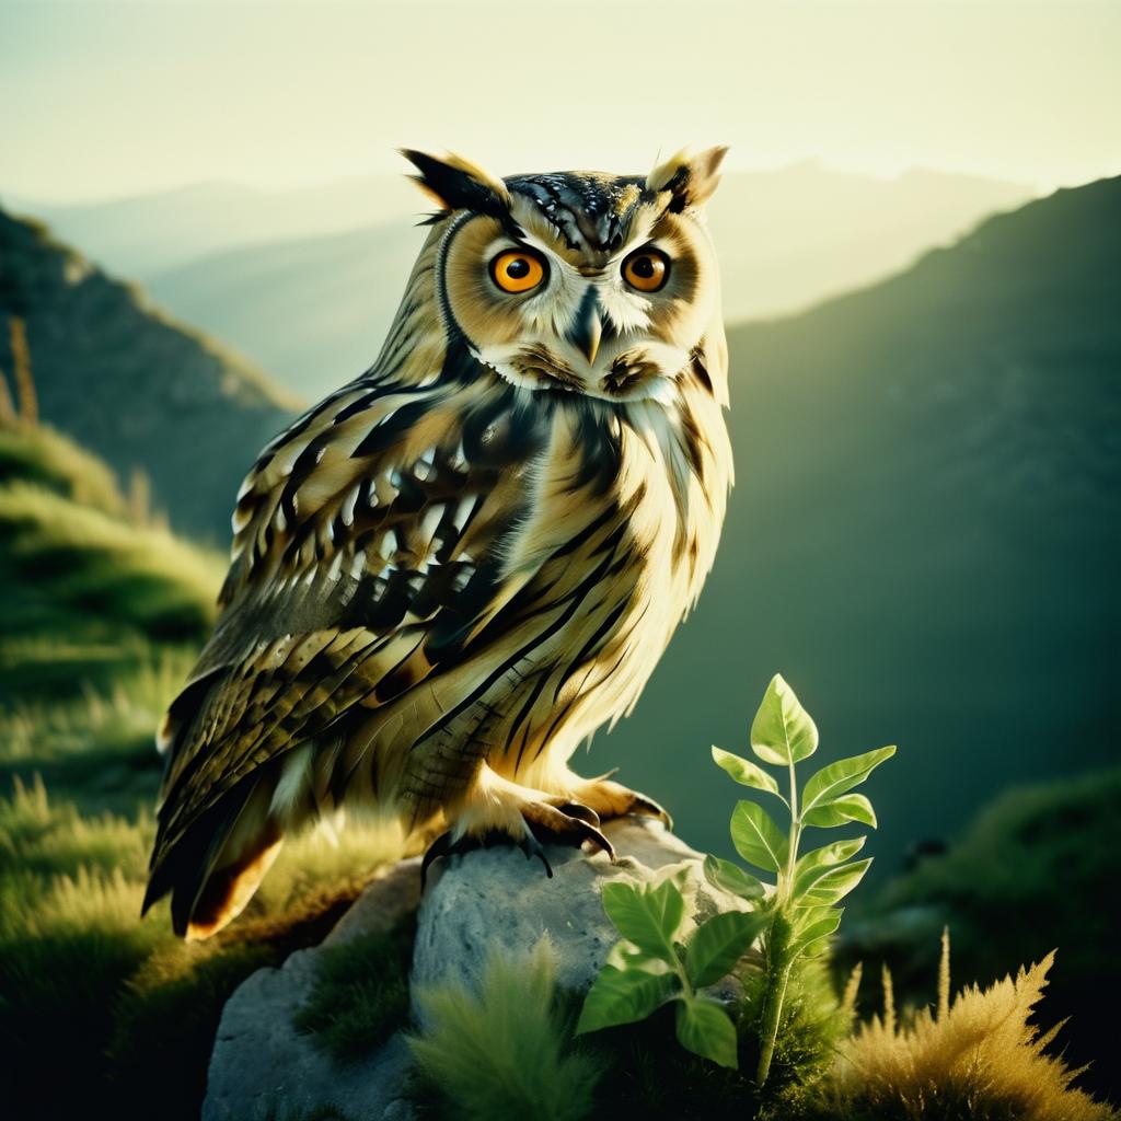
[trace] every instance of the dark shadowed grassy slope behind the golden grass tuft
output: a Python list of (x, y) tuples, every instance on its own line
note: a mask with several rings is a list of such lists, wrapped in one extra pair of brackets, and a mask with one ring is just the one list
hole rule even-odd
[[(943, 926), (958, 971), (982, 982), (1057, 947), (1041, 1022), (1069, 1017), (1060, 1043), (1072, 1062), (1101, 1059), (1121, 997), (1110, 902), (1119, 800), (1121, 769), (1006, 791), (947, 852), (925, 859), (863, 908), (842, 944), (842, 966), (863, 960), (878, 974), (886, 964), (902, 998), (924, 1003), (934, 998)], [(1100, 1092), (1117, 1084), (1097, 1063), (1083, 1082)]]

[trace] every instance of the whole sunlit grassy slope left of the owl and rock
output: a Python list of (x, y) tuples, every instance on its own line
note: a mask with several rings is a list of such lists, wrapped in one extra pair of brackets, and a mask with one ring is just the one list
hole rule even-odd
[[(12, 1115), (196, 1118), (221, 1009), (322, 939), (398, 840), (286, 845), (244, 916), (186, 945), (139, 918), (152, 731), (214, 614), (222, 562), (128, 511), (48, 429), (0, 426), (0, 1095)], [(65, 1071), (65, 1076), (59, 1076)]]

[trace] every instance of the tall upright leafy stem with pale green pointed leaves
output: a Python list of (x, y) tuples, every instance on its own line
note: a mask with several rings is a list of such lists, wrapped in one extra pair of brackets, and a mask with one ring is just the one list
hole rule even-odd
[[(796, 767), (808, 759), (818, 744), (817, 725), (802, 707), (794, 689), (776, 674), (751, 723), (751, 750), (772, 767), (785, 767), (788, 794), (784, 795), (772, 775), (757, 763), (730, 751), (713, 748), (714, 761), (741, 786), (769, 794), (788, 809), (790, 824), (784, 832), (754, 802), (740, 802), (732, 813), (735, 851), (756, 868), (772, 872), (776, 882), (761, 905), (766, 916), (763, 947), (767, 986), (760, 1023), (759, 1066), (756, 1081), (767, 1082), (782, 1016), (782, 1002), (790, 971), (803, 957), (823, 953), (841, 923), (843, 908), (836, 905), (860, 883), (872, 861), (853, 860), (865, 837), (835, 841), (799, 855), (807, 827), (834, 828), (850, 822), (876, 827), (872, 804), (852, 790), (872, 770), (895, 754), (895, 747), (879, 748), (830, 763), (809, 777), (799, 791)], [(763, 893), (763, 884), (743, 869), (710, 856), (705, 874), (716, 887)]]

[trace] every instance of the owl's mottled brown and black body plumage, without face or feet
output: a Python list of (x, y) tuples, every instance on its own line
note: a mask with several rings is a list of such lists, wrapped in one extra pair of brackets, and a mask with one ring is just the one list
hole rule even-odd
[[(538, 179), (552, 219), (535, 221), (557, 252), (599, 238), (602, 256), (643, 200), (668, 211), (640, 183), (600, 203), (589, 187), (568, 222), (563, 184)], [(219, 622), (163, 732), (149, 901), (182, 895), (180, 930), (210, 933), (215, 869), (344, 802), (423, 827), (473, 821), (487, 773), (575, 789), (568, 758), (633, 706), (712, 565), (731, 483), (719, 319), (668, 377), (636, 360), (629, 377), (665, 383), (655, 397), (610, 399), (626, 363), (596, 396), (518, 383), (447, 309), (460, 221), (434, 223), (373, 367), (239, 493)]]

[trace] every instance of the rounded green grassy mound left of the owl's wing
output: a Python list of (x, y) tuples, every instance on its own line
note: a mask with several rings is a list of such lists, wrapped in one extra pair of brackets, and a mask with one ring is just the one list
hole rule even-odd
[(222, 556), (131, 511), (49, 428), (0, 426), (0, 706), (112, 685), (213, 624)]

